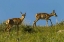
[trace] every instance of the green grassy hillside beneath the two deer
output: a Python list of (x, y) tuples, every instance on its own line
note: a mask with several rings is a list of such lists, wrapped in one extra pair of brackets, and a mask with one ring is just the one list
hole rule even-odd
[(19, 35), (16, 28), (11, 28), (10, 34), (4, 32), (5, 24), (0, 24), (0, 42), (64, 42), (64, 24), (61, 22), (54, 26), (32, 26), (20, 25)]

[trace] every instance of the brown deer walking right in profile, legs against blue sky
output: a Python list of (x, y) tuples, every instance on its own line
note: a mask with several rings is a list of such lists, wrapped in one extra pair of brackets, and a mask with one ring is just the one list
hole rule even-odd
[(36, 20), (35, 20), (34, 23), (33, 23), (33, 27), (36, 26), (36, 22), (37, 22), (38, 20), (40, 20), (40, 19), (46, 20), (46, 26), (48, 26), (48, 20), (50, 20), (51, 25), (52, 25), (52, 21), (51, 21), (51, 19), (50, 19), (51, 16), (57, 17), (57, 15), (56, 15), (56, 13), (55, 13), (55, 10), (53, 10), (53, 12), (50, 13), (50, 14), (48, 14), (48, 13), (37, 13), (36, 16), (35, 16), (35, 17), (36, 17)]

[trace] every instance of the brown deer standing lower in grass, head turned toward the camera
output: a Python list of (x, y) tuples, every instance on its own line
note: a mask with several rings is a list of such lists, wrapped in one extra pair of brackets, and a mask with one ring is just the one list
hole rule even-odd
[[(20, 12), (20, 13), (22, 14), (22, 12)], [(22, 17), (20, 17), (20, 18), (11, 18), (11, 19), (8, 19), (6, 21), (7, 27), (5, 28), (5, 31), (9, 32), (10, 29), (11, 29), (11, 27), (13, 25), (15, 25), (17, 27), (17, 31), (19, 31), (19, 25), (22, 23), (22, 21), (24, 20), (25, 16), (26, 16), (26, 13), (22, 14)]]

